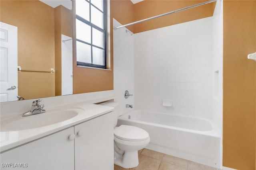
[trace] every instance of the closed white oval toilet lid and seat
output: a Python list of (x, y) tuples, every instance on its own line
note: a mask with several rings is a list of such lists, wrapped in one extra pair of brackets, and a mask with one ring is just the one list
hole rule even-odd
[(126, 141), (144, 141), (148, 139), (148, 132), (135, 126), (121, 125), (114, 129), (114, 136)]

